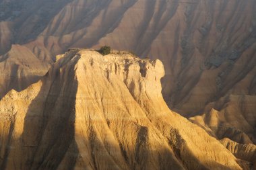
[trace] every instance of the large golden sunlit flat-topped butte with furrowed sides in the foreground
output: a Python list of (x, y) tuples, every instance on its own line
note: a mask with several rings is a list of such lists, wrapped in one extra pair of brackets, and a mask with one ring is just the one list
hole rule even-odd
[[(1, 169), (241, 169), (161, 94), (160, 60), (70, 50), (0, 101)], [(154, 90), (152, 90), (154, 89)]]

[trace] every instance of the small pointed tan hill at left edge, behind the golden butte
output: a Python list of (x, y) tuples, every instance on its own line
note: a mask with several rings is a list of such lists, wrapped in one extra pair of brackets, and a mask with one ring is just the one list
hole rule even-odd
[(22, 91), (35, 83), (48, 67), (28, 48), (12, 45), (9, 52), (0, 55), (0, 99), (11, 89)]

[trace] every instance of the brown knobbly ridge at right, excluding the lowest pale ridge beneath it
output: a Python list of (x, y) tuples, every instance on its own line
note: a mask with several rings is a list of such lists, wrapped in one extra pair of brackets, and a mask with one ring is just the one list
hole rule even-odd
[(239, 143), (256, 143), (255, 102), (255, 96), (230, 95), (210, 103), (205, 110), (206, 114), (190, 120), (210, 128), (220, 139), (226, 137)]

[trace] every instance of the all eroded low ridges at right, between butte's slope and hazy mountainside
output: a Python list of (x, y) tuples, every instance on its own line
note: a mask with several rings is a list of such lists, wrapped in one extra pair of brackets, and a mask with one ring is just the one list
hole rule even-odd
[(189, 120), (220, 139), (234, 156), (253, 167), (256, 165), (255, 103), (253, 95), (229, 95), (207, 105), (202, 116)]

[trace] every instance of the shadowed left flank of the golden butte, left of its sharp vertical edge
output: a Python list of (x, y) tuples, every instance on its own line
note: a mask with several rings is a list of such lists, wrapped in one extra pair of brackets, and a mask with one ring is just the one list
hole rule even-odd
[[(3, 114), (13, 118), (13, 129), (8, 135), (11, 140), (2, 145), (11, 146), (3, 157), (3, 169), (57, 169), (64, 157), (71, 157), (67, 155), (69, 146), (75, 152), (73, 124), (77, 83), (72, 70), (78, 59), (79, 56), (58, 62), (38, 83), (21, 93), (11, 91), (4, 97), (3, 103), (9, 97), (14, 102), (5, 103), (7, 108), (13, 108), (13, 113)], [(4, 108), (1, 105), (1, 109)], [(75, 164), (76, 153), (65, 168)]]

